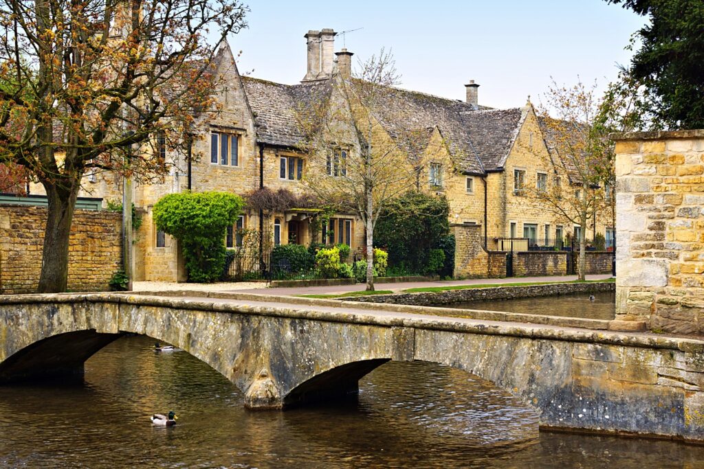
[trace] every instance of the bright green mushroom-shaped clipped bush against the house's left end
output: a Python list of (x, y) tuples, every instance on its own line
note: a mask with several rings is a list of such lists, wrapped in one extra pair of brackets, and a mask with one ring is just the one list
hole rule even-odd
[(243, 206), (239, 196), (224, 192), (169, 194), (154, 205), (156, 227), (182, 243), (189, 281), (218, 281), (225, 269), (225, 232)]

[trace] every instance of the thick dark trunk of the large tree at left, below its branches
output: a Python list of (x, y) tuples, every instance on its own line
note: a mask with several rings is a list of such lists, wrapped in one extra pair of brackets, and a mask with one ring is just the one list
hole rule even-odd
[(63, 293), (68, 284), (68, 238), (78, 195), (78, 184), (68, 190), (44, 184), (49, 213), (44, 231), (42, 274), (38, 293)]

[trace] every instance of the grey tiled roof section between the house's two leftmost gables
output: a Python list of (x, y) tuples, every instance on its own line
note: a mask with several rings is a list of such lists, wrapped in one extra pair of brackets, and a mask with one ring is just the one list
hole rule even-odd
[(295, 147), (303, 134), (296, 112), (324, 100), (332, 91), (330, 80), (303, 84), (279, 84), (241, 77), (244, 93), (254, 116), (256, 140), (268, 145)]

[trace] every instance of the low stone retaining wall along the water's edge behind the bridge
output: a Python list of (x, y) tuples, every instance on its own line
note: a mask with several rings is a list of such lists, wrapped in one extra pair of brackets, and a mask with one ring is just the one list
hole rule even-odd
[(482, 300), (510, 300), (570, 293), (612, 292), (613, 282), (593, 283), (548, 283), (546, 285), (524, 285), (515, 287), (465, 288), (442, 292), (396, 293), (394, 295), (372, 295), (366, 297), (345, 297), (345, 301), (367, 303), (413, 304), (415, 306), (435, 306)]

